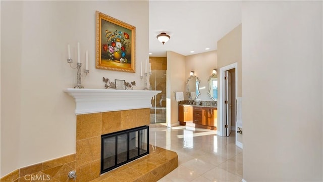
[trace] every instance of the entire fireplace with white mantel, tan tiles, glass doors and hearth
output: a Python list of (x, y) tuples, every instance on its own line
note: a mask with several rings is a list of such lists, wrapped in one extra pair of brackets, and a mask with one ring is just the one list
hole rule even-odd
[[(129, 175), (127, 180), (141, 178), (155, 181), (178, 166), (175, 152), (160, 149), (157, 151), (162, 155), (156, 151), (149, 154), (152, 146), (149, 145), (147, 125), (151, 98), (161, 91), (86, 88), (64, 91), (76, 103), (76, 181), (103, 178), (106, 181), (112, 174), (116, 174), (112, 178), (116, 181), (116, 178), (134, 171), (136, 175)], [(127, 133), (120, 134), (124, 130)], [(102, 143), (109, 147), (101, 148)], [(125, 152), (126, 148), (129, 152)], [(126, 164), (128, 160), (132, 162)], [(135, 179), (135, 176), (138, 178)]]

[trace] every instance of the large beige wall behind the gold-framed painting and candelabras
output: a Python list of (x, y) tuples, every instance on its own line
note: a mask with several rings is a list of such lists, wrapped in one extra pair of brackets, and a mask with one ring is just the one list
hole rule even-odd
[[(136, 73), (95, 69), (95, 11), (136, 27)], [(148, 58), (147, 1), (1, 1), (1, 176), (24, 166), (75, 153), (76, 84), (67, 44), (76, 62), (89, 53), (86, 88), (104, 88), (102, 77), (136, 81)], [(84, 68), (84, 67), (83, 67)]]

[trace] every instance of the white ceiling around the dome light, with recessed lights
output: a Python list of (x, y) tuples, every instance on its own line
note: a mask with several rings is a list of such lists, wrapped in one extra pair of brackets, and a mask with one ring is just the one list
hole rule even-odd
[[(188, 56), (217, 50), (217, 41), (240, 23), (241, 1), (150, 0), (149, 56), (166, 57), (166, 51)], [(161, 32), (171, 36), (164, 45), (156, 38)]]

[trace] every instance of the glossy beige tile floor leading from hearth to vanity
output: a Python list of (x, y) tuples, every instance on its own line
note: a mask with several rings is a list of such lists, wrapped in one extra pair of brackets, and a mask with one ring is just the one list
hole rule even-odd
[(222, 137), (216, 131), (188, 126), (150, 127), (149, 143), (175, 151), (178, 168), (158, 181), (241, 181), (242, 149), (235, 132)]

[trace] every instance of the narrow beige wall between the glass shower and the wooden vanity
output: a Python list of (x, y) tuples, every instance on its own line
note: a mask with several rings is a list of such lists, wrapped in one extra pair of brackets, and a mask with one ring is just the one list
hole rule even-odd
[(178, 103), (175, 100), (175, 92), (185, 93), (185, 56), (178, 53), (167, 52), (167, 125), (179, 124)]

